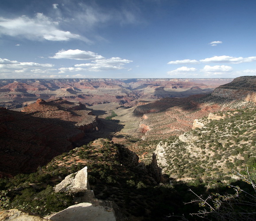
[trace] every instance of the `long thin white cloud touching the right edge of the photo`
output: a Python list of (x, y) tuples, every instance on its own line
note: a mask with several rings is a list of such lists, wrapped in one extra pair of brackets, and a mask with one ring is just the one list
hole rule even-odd
[(256, 61), (256, 57), (231, 57), (231, 56), (214, 56), (200, 60), (200, 62), (221, 62), (221, 63), (233, 63), (240, 64), (245, 62)]

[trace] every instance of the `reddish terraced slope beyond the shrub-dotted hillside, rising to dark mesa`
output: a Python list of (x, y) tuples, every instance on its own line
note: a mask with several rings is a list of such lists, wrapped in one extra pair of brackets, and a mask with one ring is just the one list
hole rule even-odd
[[(119, 108), (115, 110), (118, 116), (114, 119), (120, 120), (125, 126), (118, 135), (132, 135), (144, 140), (180, 135), (192, 128), (195, 119), (210, 112), (247, 107), (250, 102), (255, 104), (255, 85), (254, 76), (244, 76), (217, 87), (212, 94), (142, 100), (133, 109)], [(194, 89), (199, 90), (197, 87)]]

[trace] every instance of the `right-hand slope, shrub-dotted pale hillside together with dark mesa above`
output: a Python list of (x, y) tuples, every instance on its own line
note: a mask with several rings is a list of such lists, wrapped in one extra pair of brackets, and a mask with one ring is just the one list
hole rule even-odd
[(255, 91), (256, 77), (243, 76), (198, 99), (204, 105), (218, 104), (221, 111), (195, 120), (194, 130), (159, 143), (155, 154), (163, 172), (182, 180), (228, 182), (236, 178), (230, 177), (232, 169), (255, 168)]

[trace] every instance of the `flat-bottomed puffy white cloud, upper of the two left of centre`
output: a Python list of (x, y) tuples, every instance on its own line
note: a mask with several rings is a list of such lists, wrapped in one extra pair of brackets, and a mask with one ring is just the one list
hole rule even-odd
[(97, 53), (91, 52), (91, 51), (82, 51), (82, 50), (62, 50), (57, 53), (53, 57), (50, 58), (68, 58), (68, 59), (74, 59), (74, 60), (89, 60), (89, 59), (103, 59), (101, 55), (98, 55)]

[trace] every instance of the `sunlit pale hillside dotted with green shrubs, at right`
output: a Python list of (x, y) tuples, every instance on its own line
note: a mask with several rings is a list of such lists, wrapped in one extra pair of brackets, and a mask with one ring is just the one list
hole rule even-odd
[(255, 167), (255, 107), (210, 114), (198, 125), (159, 143), (155, 153), (164, 173), (182, 180), (202, 178), (214, 183), (236, 179), (231, 175), (233, 169)]

